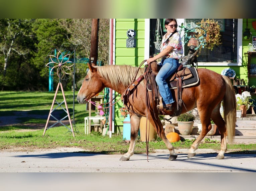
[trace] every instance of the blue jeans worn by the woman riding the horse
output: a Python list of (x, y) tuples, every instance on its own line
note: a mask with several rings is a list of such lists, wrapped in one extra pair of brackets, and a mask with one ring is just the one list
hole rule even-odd
[(160, 66), (161, 69), (156, 75), (155, 81), (158, 85), (159, 93), (163, 98), (163, 104), (170, 104), (174, 100), (166, 79), (178, 69), (179, 62), (173, 58), (167, 58), (162, 60)]

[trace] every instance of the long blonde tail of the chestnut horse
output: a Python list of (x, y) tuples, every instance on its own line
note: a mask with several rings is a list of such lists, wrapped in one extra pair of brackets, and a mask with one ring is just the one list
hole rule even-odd
[(223, 76), (226, 83), (226, 92), (223, 99), (224, 120), (226, 122), (228, 141), (233, 144), (236, 128), (236, 96), (230, 79)]

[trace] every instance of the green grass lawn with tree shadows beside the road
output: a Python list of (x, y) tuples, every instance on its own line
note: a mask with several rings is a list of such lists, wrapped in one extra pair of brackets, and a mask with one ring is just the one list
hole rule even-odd
[[(89, 116), (89, 112), (86, 111), (85, 104), (79, 104), (77, 101), (75, 101), (75, 126), (73, 127), (77, 131), (75, 138), (63, 125), (47, 129), (42, 136), (54, 94), (55, 92), (0, 92), (0, 149), (2, 151), (19, 148), (33, 150), (79, 147), (94, 153), (124, 154), (127, 152), (129, 143), (123, 141), (122, 134), (114, 133), (112, 138), (102, 136), (98, 132), (85, 135), (84, 117)], [(65, 92), (65, 97), (71, 119), (73, 119), (73, 92)], [(58, 102), (63, 100), (61, 91), (58, 92), (56, 100)], [(65, 107), (64, 103), (63, 107)], [(56, 112), (59, 117), (66, 115), (62, 109), (56, 109)], [(93, 115), (95, 114), (92, 113)], [(67, 126), (70, 128), (69, 123)], [(185, 140), (175, 142), (173, 146), (175, 149), (189, 148), (192, 143), (191, 140)], [(199, 148), (219, 150), (220, 142), (205, 140)], [(255, 152), (256, 144), (228, 145), (228, 148), (239, 152)], [(159, 137), (149, 142), (149, 152), (153, 152), (154, 149), (166, 149)], [(135, 153), (145, 152), (146, 143), (138, 139)]]

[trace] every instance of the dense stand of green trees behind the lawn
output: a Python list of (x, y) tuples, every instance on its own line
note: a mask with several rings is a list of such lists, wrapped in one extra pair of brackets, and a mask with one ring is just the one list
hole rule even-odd
[[(0, 19), (0, 90), (47, 90), (45, 59), (65, 43), (78, 45), (76, 58), (89, 58), (91, 19)], [(109, 19), (100, 19), (98, 55), (98, 61), (108, 64)], [(79, 67), (77, 81), (87, 65)], [(63, 87), (72, 84), (71, 78)]]

